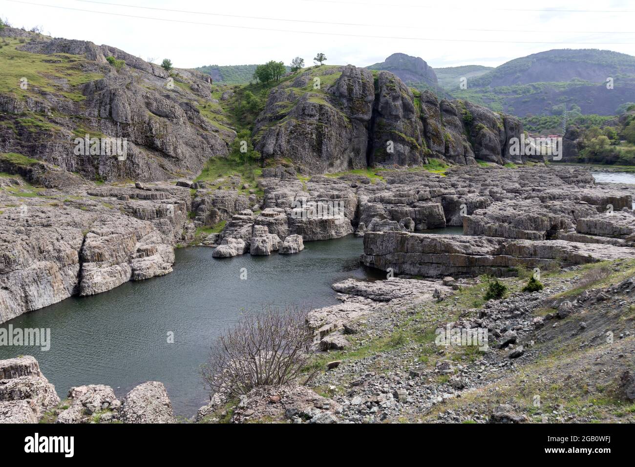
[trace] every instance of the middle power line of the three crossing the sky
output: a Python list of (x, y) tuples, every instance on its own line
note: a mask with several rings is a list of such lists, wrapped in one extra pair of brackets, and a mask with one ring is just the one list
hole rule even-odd
[[(81, 3), (95, 3), (98, 5), (110, 5), (110, 6), (123, 6), (124, 8), (139, 8), (141, 10), (157, 10), (157, 11), (170, 11), (171, 13), (189, 13), (192, 15), (208, 15), (214, 17), (226, 17), (226, 18), (243, 18), (250, 20), (267, 20), (267, 21), (284, 21), (291, 23), (311, 23), (311, 24), (328, 24), (335, 26), (360, 26), (360, 27), (393, 27), (385, 24), (367, 24), (367, 23), (338, 23), (331, 21), (316, 21), (316, 20), (296, 20), (289, 18), (271, 18), (271, 17), (252, 17), (244, 15), (229, 15), (226, 13), (209, 13), (208, 11), (193, 11), (193, 10), (175, 10), (171, 8), (156, 8), (154, 6), (137, 6), (128, 5), (123, 3), (110, 3), (110, 2), (98, 2), (94, 0), (74, 0)], [(399, 29), (427, 29), (427, 30), (447, 30), (447, 28), (438, 27), (421, 27), (421, 26), (404, 26), (399, 25)], [(453, 30), (465, 30), (465, 31), (479, 31), (479, 32), (558, 32), (563, 34), (635, 34), (635, 31), (584, 31), (584, 30), (527, 30), (527, 29), (472, 29), (472, 28), (455, 28)]]

